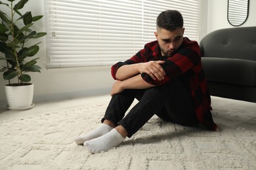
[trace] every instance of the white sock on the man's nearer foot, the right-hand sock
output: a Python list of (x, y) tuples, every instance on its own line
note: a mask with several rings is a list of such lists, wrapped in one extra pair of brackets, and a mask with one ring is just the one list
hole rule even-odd
[(116, 129), (112, 129), (110, 132), (102, 135), (101, 137), (86, 141), (83, 143), (83, 146), (87, 146), (91, 153), (96, 153), (100, 151), (108, 151), (110, 148), (121, 144), (124, 140), (125, 138), (122, 137)]

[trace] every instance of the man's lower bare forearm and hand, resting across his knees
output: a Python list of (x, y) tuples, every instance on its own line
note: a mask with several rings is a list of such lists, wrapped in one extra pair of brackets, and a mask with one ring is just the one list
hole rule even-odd
[(112, 91), (111, 95), (121, 93), (125, 89), (144, 89), (144, 88), (151, 88), (154, 87), (155, 85), (149, 84), (146, 82), (141, 75), (136, 75), (131, 78), (128, 78), (126, 80), (117, 80), (113, 86), (112, 86)]

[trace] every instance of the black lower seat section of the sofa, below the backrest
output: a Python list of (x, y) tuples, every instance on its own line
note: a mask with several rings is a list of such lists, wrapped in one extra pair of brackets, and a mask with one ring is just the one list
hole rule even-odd
[(256, 61), (230, 58), (202, 58), (207, 80), (256, 86)]

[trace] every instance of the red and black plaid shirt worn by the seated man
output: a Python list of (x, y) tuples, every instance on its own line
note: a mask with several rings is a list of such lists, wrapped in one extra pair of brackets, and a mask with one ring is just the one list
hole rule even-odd
[(157, 60), (165, 60), (165, 63), (161, 65), (166, 73), (165, 78), (163, 80), (153, 80), (146, 73), (141, 74), (142, 78), (149, 84), (156, 86), (165, 84), (174, 78), (179, 78), (191, 94), (198, 120), (207, 128), (216, 130), (217, 125), (211, 117), (211, 97), (203, 72), (198, 42), (190, 41), (185, 37), (177, 52), (169, 58), (161, 56), (158, 41), (149, 42), (132, 58), (113, 65), (112, 76), (116, 79), (116, 71), (122, 65)]

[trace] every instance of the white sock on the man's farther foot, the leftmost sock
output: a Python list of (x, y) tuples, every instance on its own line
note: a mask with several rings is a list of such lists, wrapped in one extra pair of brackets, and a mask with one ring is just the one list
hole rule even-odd
[(97, 137), (105, 135), (106, 133), (110, 132), (112, 129), (113, 127), (108, 126), (107, 124), (100, 124), (99, 127), (87, 133), (86, 135), (83, 135), (81, 137), (75, 137), (74, 141), (76, 144), (83, 144), (85, 143), (85, 141), (89, 141), (91, 139), (95, 139)]

